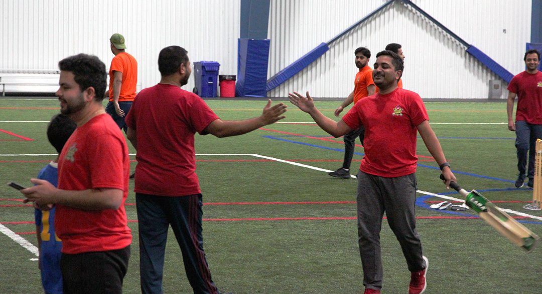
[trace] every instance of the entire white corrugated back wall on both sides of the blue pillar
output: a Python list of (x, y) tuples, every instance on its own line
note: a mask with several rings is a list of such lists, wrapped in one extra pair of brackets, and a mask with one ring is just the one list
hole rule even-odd
[[(80, 52), (99, 56), (108, 67), (113, 58), (108, 38), (120, 32), (139, 62), (139, 88), (158, 82), (158, 52), (168, 45), (183, 46), (192, 62), (218, 61), (221, 74), (236, 74), (240, 2), (0, 0), (0, 69), (56, 69), (60, 59)], [(271, 0), (268, 77), (384, 3)], [(512, 73), (524, 70), (531, 0), (414, 3)], [(391, 42), (403, 45), (405, 88), (424, 98), (487, 98), (489, 80), (499, 79), (454, 39), (396, 2), (331, 44), (324, 56), (268, 96), (310, 90), (315, 97), (345, 97), (357, 70), (353, 51), (367, 46), (376, 55)], [(506, 89), (505, 82), (502, 86)], [(192, 87), (193, 78), (185, 89)]]

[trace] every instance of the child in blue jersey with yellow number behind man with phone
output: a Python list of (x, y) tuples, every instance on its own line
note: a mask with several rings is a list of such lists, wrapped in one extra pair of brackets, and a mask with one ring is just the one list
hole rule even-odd
[[(75, 122), (65, 115), (59, 113), (51, 118), (47, 127), (47, 138), (59, 154), (75, 128), (77, 128)], [(59, 178), (58, 159), (57, 156), (54, 161), (45, 166), (38, 173), (37, 178), (49, 181), (56, 187)], [(62, 242), (55, 234), (55, 208), (53, 207), (48, 211), (35, 209), (34, 216), (36, 219), (38, 249), (40, 250), (38, 266), (41, 271), (43, 290), (47, 294), (61, 294), (60, 257), (62, 254), (60, 250), (62, 249)]]

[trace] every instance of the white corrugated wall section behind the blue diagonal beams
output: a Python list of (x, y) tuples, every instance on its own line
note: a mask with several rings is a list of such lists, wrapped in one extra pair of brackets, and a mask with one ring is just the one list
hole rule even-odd
[[(514, 75), (524, 70), (531, 34), (531, 0), (413, 1), (469, 44)], [(272, 0), (268, 77), (384, 4), (383, 0)], [(346, 97), (357, 72), (354, 50), (367, 46), (374, 56), (388, 43), (403, 45), (404, 87), (423, 98), (487, 98), (489, 80), (499, 79), (445, 32), (401, 2), (389, 5), (330, 46), (308, 68), (268, 92), (311, 91), (314, 97)], [(372, 64), (370, 62), (370, 64)], [(506, 98), (506, 82), (502, 82)]]

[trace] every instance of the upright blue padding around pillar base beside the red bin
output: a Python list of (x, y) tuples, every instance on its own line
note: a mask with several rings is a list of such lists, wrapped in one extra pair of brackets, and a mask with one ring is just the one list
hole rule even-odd
[(238, 39), (237, 97), (266, 97), (269, 39)]

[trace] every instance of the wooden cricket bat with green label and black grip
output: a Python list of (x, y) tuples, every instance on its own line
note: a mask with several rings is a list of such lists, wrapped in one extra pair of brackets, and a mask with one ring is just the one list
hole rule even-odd
[[(443, 176), (441, 175), (442, 178)], [(486, 223), (499, 231), (501, 235), (527, 252), (531, 252), (537, 246), (540, 238), (535, 233), (525, 228), (524, 225), (509, 216), (508, 213), (502, 211), (479, 192), (476, 190), (467, 192), (467, 190), (461, 188), (455, 182), (451, 182), (450, 187), (465, 197), (465, 204), (478, 213), (480, 218), (486, 221)]]

